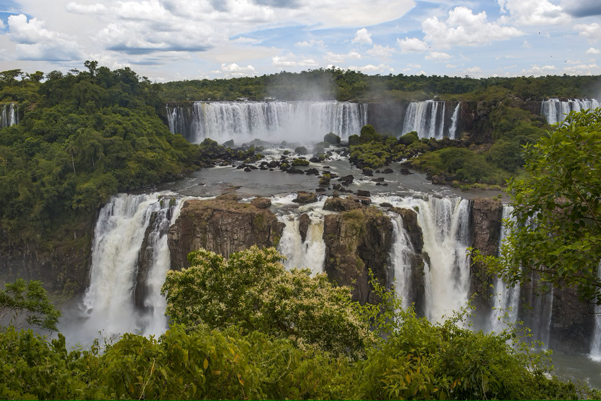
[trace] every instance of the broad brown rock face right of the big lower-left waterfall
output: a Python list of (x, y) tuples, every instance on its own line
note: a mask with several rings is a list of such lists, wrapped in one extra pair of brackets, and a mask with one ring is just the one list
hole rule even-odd
[(238, 203), (233, 194), (186, 201), (168, 231), (171, 268), (189, 267), (188, 254), (199, 248), (228, 257), (252, 245), (276, 246), (284, 226), (270, 210)]

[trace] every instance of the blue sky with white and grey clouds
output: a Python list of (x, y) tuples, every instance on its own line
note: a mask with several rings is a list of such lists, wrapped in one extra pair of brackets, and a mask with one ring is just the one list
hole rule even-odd
[(0, 19), (0, 70), (601, 75), (601, 0), (0, 0)]

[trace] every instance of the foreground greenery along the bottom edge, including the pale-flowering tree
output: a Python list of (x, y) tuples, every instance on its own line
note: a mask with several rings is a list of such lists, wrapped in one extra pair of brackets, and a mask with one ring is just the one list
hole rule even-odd
[[(596, 399), (561, 382), (516, 329), (471, 331), (466, 310), (442, 324), (350, 301), (324, 274), (287, 271), (275, 249), (229, 260), (200, 249), (163, 286), (172, 325), (90, 349), (63, 335), (0, 330), (7, 399)], [(198, 290), (202, 289), (202, 290)], [(3, 295), (0, 292), (0, 295)], [(0, 296), (0, 302), (6, 297)], [(10, 298), (10, 297), (9, 297)], [(10, 299), (7, 299), (10, 302)], [(43, 300), (42, 300), (43, 301)], [(3, 304), (0, 304), (3, 306)]]

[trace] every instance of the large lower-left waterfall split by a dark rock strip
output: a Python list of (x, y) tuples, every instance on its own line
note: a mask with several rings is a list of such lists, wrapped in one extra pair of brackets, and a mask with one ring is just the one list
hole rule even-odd
[[(161, 333), (166, 328), (165, 299), (160, 287), (169, 269), (166, 228), (177, 219), (183, 201), (169, 202), (159, 194), (118, 194), (102, 208), (92, 246), (90, 286), (81, 309), (87, 317), (82, 338), (107, 334), (144, 331)], [(153, 263), (147, 277), (144, 304), (150, 316), (136, 310), (133, 292), (138, 273), (138, 254), (151, 215), (157, 212), (148, 236)]]

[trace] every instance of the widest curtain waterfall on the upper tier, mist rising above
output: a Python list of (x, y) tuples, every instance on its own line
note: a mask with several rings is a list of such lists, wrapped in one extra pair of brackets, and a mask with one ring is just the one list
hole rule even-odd
[(322, 141), (328, 132), (343, 139), (361, 132), (367, 105), (350, 102), (194, 102), (167, 107), (169, 130), (191, 142), (253, 138)]

